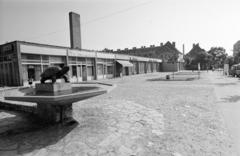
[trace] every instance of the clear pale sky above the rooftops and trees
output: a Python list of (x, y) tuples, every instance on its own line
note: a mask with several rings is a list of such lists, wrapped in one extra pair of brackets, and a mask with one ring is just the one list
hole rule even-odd
[(70, 47), (68, 13), (81, 16), (82, 48), (176, 42), (232, 55), (240, 40), (239, 0), (0, 0), (0, 44), (15, 40)]

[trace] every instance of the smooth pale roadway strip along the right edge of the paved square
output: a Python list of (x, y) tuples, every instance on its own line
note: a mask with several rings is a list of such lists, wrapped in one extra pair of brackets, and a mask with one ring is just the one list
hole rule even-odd
[(226, 127), (231, 134), (234, 148), (240, 155), (240, 81), (239, 78), (222, 76), (222, 73), (209, 74), (214, 79), (214, 89)]

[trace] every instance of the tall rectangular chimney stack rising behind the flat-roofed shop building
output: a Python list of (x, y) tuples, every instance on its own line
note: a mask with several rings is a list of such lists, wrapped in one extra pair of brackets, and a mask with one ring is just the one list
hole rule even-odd
[(82, 49), (80, 15), (74, 12), (69, 13), (70, 42), (71, 48)]

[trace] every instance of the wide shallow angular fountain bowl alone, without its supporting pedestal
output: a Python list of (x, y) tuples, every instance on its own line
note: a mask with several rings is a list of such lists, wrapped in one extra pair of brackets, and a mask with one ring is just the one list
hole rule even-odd
[(36, 92), (34, 88), (20, 88), (5, 96), (5, 100), (64, 105), (107, 93), (107, 90), (94, 86), (73, 86), (72, 90), (56, 93)]

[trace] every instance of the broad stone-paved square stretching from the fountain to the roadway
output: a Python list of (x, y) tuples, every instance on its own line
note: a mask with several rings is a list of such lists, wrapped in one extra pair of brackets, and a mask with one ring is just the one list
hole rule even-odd
[[(149, 81), (164, 76), (102, 80), (117, 87), (73, 104), (76, 123), (0, 135), (0, 155), (234, 155), (207, 73), (193, 81)], [(16, 117), (22, 116), (0, 112), (0, 123)]]

